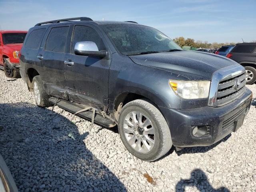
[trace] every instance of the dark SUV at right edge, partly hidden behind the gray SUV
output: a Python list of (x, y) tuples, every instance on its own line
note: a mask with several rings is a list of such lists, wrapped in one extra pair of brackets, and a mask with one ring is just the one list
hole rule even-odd
[(246, 84), (256, 82), (256, 43), (239, 43), (226, 55), (246, 69)]

